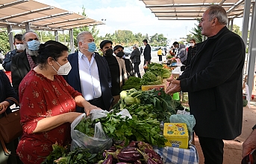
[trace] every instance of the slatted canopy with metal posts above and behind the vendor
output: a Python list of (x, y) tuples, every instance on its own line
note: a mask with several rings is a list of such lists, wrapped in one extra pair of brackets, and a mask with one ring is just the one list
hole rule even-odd
[[(248, 57), (246, 57), (245, 72), (248, 74), (247, 84), (249, 95), (252, 94), (254, 84), (255, 57), (256, 57), (256, 5), (255, 0), (139, 0), (143, 1), (146, 8), (152, 10), (159, 20), (196, 20), (201, 19), (202, 14), (212, 4), (225, 8), (228, 14), (227, 27), (233, 29), (233, 20), (243, 17), (242, 39), (248, 45)], [(250, 37), (248, 40), (249, 17), (251, 16)], [(248, 42), (249, 41), (249, 42)], [(254, 47), (254, 48), (253, 48)], [(248, 62), (247, 62), (248, 61)], [(241, 79), (242, 80), (242, 79)]]

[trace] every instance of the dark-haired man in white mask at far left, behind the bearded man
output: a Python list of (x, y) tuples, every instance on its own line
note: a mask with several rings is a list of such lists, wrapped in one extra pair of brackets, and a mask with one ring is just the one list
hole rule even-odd
[(14, 36), (13, 45), (16, 47), (16, 49), (9, 51), (4, 56), (3, 68), (6, 71), (10, 71), (11, 58), (18, 53), (22, 53), (23, 50), (25, 50), (25, 45), (22, 41), (22, 34), (16, 34)]

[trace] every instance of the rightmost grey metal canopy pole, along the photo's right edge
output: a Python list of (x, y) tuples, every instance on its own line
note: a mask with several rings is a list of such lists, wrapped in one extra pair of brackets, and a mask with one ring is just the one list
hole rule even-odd
[(254, 84), (254, 73), (255, 73), (255, 55), (256, 55), (256, 32), (255, 32), (255, 22), (256, 22), (256, 5), (253, 5), (252, 10), (252, 22), (250, 30), (250, 42), (249, 42), (249, 68), (248, 68), (248, 80), (247, 84), (249, 86), (249, 95), (252, 94), (253, 84)]

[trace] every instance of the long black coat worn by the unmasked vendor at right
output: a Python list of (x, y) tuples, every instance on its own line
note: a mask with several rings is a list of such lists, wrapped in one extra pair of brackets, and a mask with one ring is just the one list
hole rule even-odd
[(227, 27), (201, 44), (178, 78), (181, 91), (189, 93), (196, 135), (233, 140), (242, 130), (246, 48), (240, 36)]

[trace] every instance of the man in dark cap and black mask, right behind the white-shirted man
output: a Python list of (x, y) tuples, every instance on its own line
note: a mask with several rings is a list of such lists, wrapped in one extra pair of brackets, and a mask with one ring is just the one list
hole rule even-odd
[(116, 56), (113, 56), (112, 49), (113, 42), (110, 40), (104, 40), (100, 43), (99, 47), (103, 53), (104, 58), (107, 60), (108, 68), (111, 75), (111, 94), (113, 95), (112, 105), (115, 105), (120, 99), (120, 92), (122, 86), (122, 70), (119, 68)]

